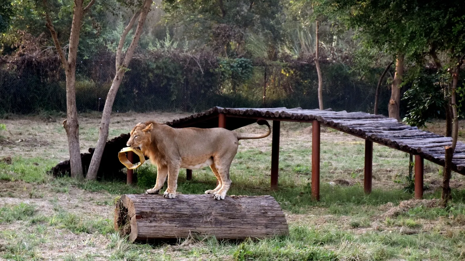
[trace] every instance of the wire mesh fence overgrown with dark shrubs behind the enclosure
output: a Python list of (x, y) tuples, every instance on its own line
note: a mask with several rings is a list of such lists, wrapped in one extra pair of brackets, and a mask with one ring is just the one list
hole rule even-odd
[[(103, 110), (114, 70), (111, 57), (107, 60), (78, 66), (78, 111)], [(249, 64), (240, 65), (245, 62)], [(312, 63), (245, 62), (179, 55), (134, 59), (113, 111), (201, 111), (213, 106), (318, 108), (318, 77)], [(55, 63), (47, 65), (48, 69), (37, 61), (21, 69), (1, 65), (0, 113), (66, 111), (66, 78), (59, 61)], [(375, 72), (371, 79), (360, 79), (346, 65), (331, 63), (323, 64), (322, 71), (325, 108), (373, 112)], [(379, 113), (387, 113), (389, 96), (385, 84)]]

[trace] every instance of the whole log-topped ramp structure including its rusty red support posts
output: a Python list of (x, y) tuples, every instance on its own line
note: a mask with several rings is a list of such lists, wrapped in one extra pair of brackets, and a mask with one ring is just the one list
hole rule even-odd
[[(167, 122), (174, 128), (222, 127), (235, 130), (255, 123), (257, 119), (273, 121), (272, 136), (272, 188), (278, 185), (279, 122), (312, 123), (312, 193), (319, 199), (319, 134), (320, 125), (365, 139), (365, 191), (371, 192), (372, 143), (385, 145), (415, 155), (415, 197), (423, 195), (423, 159), (444, 166), (445, 146), (452, 138), (444, 137), (417, 127), (399, 123), (396, 119), (365, 112), (303, 110), (302, 108), (221, 108), (194, 113), (189, 117)], [(452, 169), (465, 175), (465, 144), (457, 143)], [(191, 171), (187, 172), (192, 175)], [(421, 188), (421, 189), (420, 189)]]

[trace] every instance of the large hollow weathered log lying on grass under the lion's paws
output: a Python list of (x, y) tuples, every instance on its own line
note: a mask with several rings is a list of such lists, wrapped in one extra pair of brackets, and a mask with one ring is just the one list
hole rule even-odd
[(116, 202), (114, 227), (130, 241), (168, 240), (194, 235), (218, 239), (288, 235), (281, 207), (272, 196), (123, 195)]

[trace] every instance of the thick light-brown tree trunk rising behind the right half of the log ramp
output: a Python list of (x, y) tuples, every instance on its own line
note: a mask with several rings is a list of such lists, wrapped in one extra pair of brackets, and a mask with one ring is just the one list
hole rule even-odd
[(400, 121), (400, 84), (402, 83), (402, 76), (404, 75), (404, 54), (400, 53), (397, 55), (396, 62), (396, 73), (394, 74), (394, 80), (391, 86), (391, 99), (387, 106), (389, 111), (389, 117), (395, 118)]

